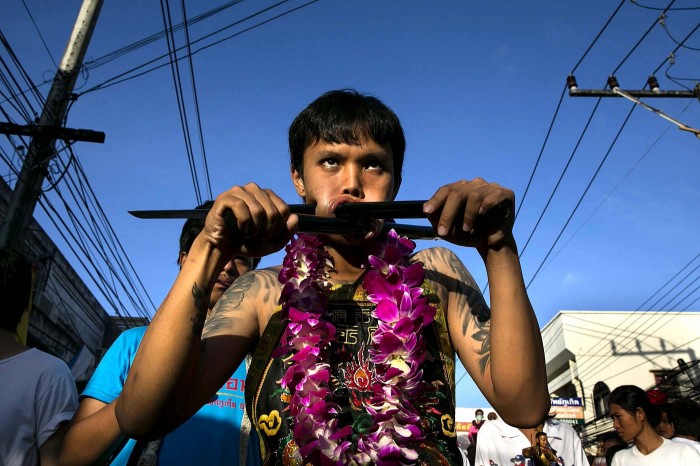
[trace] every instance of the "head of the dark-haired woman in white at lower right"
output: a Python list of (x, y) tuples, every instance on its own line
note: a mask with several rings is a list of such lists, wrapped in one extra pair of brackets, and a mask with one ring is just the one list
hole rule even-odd
[(647, 394), (635, 385), (622, 385), (610, 394), (613, 428), (624, 442), (632, 442), (645, 430), (655, 432), (661, 415)]

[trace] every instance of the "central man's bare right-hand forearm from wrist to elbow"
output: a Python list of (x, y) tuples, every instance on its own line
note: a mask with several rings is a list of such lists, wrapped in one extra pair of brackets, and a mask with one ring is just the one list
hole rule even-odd
[(525, 290), (517, 248), (513, 241), (482, 256), (491, 288), (494, 393), (504, 403), (502, 414), (510, 417), (509, 424), (531, 427), (547, 414), (549, 396), (542, 337)]

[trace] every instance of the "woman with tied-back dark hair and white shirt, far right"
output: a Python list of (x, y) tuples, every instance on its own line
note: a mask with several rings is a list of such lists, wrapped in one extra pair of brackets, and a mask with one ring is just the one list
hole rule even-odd
[(700, 453), (690, 445), (672, 442), (654, 430), (659, 421), (658, 407), (634, 385), (622, 385), (610, 394), (613, 428), (620, 438), (633, 445), (619, 451), (611, 466), (700, 466)]

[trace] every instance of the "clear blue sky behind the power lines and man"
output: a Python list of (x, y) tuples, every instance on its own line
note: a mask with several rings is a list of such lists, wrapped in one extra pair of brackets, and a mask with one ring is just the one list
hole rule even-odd
[[(24, 3), (58, 60), (80, 2)], [(667, 5), (658, 0), (638, 3), (657, 8)], [(188, 16), (218, 4), (189, 2)], [(272, 4), (241, 2), (193, 25), (190, 36), (193, 40), (202, 37)], [(212, 40), (303, 4), (289, 1)], [(182, 19), (179, 5), (172, 2), (175, 23)], [(214, 193), (255, 181), (288, 202), (297, 202), (287, 170), (287, 127), (320, 93), (352, 87), (380, 97), (402, 120), (407, 152), (400, 199), (427, 198), (445, 183), (477, 176), (512, 188), (516, 199), (521, 199), (565, 78), (618, 2), (591, 0), (584, 6), (571, 1), (518, 0), (504, 5), (456, 0), (321, 0), (195, 54)], [(692, 6), (696, 3), (689, 0), (674, 4), (676, 8)], [(602, 88), (659, 13), (625, 2), (576, 68), (579, 87)], [(665, 18), (668, 32), (676, 39), (684, 38), (698, 22), (700, 10), (673, 10)], [(54, 65), (21, 0), (6, 2), (0, 29), (35, 82), (53, 75)], [(86, 60), (162, 29), (159, 2), (105, 2)], [(176, 41), (184, 44), (181, 33)], [(700, 48), (700, 33), (686, 45)], [(675, 47), (657, 23), (615, 73), (622, 88), (642, 88), (647, 76)], [(165, 41), (160, 40), (95, 67), (79, 79), (77, 92), (165, 52)], [(681, 89), (664, 76), (666, 67), (657, 73), (661, 88)], [(680, 49), (669, 74), (700, 79), (698, 70), (700, 51)], [(192, 117), (185, 62), (181, 62), (181, 72)], [(41, 90), (45, 93), (48, 86)], [(516, 222), (521, 250), (595, 103), (590, 98), (564, 97)], [(649, 103), (689, 126), (700, 126), (697, 99)], [(600, 103), (523, 253), (526, 283), (559, 235), (631, 106), (621, 99)], [(194, 125), (193, 118), (190, 125)], [(170, 68), (81, 95), (70, 111), (68, 126), (106, 132), (105, 144), (79, 143), (76, 153), (151, 299), (160, 303), (177, 273), (181, 222), (137, 220), (127, 211), (189, 208), (197, 203)], [(5, 140), (0, 144), (11, 151)], [(200, 163), (196, 136), (194, 144)], [(9, 173), (5, 165), (2, 169), (3, 175)], [(199, 169), (201, 176), (201, 165)], [(693, 259), (700, 252), (698, 173), (700, 139), (669, 128), (651, 112), (636, 109), (549, 260), (529, 286), (540, 325), (564, 309), (637, 309)], [(53, 231), (43, 212), (37, 210), (36, 216)], [(63, 244), (60, 238), (56, 242)], [(478, 255), (471, 250), (458, 253), (483, 285), (485, 273)], [(266, 258), (262, 265), (274, 265), (279, 257)], [(81, 273), (88, 280), (88, 273)], [(688, 288), (680, 309), (700, 296), (691, 294), (694, 286)], [(700, 304), (690, 309), (700, 310)], [(460, 368), (458, 378), (462, 374)], [(460, 382), (458, 405), (485, 404), (468, 377)]]

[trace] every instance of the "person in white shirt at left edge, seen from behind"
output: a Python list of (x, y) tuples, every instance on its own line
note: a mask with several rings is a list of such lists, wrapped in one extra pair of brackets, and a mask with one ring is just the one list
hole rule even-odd
[(0, 250), (0, 465), (51, 466), (78, 407), (70, 369), (55, 356), (17, 341), (29, 304), (32, 268), (16, 251)]

